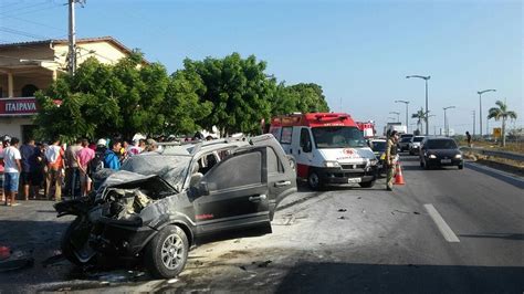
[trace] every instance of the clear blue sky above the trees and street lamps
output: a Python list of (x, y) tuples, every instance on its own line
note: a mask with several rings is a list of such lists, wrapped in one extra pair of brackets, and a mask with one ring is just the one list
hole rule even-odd
[[(0, 42), (66, 38), (64, 2), (0, 0), (0, 28), (31, 35), (0, 30)], [(80, 38), (112, 35), (138, 48), (169, 72), (185, 57), (254, 54), (280, 81), (317, 83), (333, 111), (379, 127), (396, 116), (389, 112), (405, 120), (395, 99), (410, 101), (409, 114), (423, 106), (423, 81), (405, 76), (431, 75), (430, 132), (443, 125), (442, 107), (453, 105), (450, 127), (463, 133), (472, 132), (476, 91), (484, 88), (497, 90), (483, 95), (484, 116), (505, 98), (524, 125), (523, 9), (522, 1), (481, 0), (87, 0), (76, 29)]]

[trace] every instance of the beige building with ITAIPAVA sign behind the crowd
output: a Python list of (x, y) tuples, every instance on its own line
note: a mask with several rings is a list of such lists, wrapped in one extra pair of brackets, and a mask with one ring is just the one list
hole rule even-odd
[[(67, 74), (67, 40), (0, 44), (0, 136), (31, 135), (38, 112), (34, 92)], [(111, 36), (76, 40), (77, 64), (94, 56), (114, 64), (132, 51)]]

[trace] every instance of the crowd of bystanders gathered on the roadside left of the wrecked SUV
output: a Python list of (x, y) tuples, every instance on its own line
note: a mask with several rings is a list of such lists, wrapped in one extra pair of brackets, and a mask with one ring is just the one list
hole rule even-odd
[[(17, 199), (61, 201), (62, 196), (81, 197), (92, 190), (93, 175), (102, 168), (118, 170), (134, 155), (158, 148), (154, 139), (85, 138), (63, 144), (59, 138), (44, 143), (3, 136), (0, 146), (0, 201), (18, 206)], [(20, 193), (20, 197), (18, 197)]]

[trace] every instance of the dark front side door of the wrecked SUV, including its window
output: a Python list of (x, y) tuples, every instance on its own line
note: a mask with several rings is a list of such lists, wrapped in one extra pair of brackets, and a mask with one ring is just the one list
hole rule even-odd
[(193, 201), (199, 233), (269, 224), (266, 149), (227, 157), (202, 178), (209, 195)]

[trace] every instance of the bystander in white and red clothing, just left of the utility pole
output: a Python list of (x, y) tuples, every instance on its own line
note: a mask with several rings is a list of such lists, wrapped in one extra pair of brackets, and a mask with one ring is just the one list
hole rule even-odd
[[(48, 199), (62, 200), (62, 168), (64, 167), (64, 151), (60, 146), (60, 139), (53, 139), (53, 144), (45, 149), (45, 160), (48, 162), (46, 188)], [(54, 196), (51, 188), (54, 185)]]

